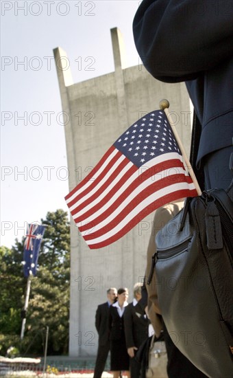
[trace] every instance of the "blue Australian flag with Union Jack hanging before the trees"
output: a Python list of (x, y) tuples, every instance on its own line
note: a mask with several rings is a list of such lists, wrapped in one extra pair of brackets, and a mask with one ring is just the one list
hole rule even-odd
[(36, 266), (44, 232), (44, 225), (27, 225), (27, 234), (23, 250), (23, 273), (25, 277), (28, 277), (29, 274), (36, 276)]

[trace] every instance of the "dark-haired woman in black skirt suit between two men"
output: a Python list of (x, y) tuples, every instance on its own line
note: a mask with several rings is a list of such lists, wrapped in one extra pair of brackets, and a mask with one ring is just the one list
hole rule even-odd
[(113, 378), (119, 378), (121, 370), (130, 377), (130, 358), (125, 344), (123, 313), (129, 296), (126, 287), (117, 291), (117, 301), (109, 308), (111, 370)]

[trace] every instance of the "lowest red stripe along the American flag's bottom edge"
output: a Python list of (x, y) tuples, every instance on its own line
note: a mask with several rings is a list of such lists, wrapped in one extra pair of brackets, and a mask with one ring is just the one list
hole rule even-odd
[(177, 190), (175, 192), (171, 192), (170, 194), (166, 194), (163, 197), (160, 197), (159, 199), (156, 199), (156, 201), (152, 202), (149, 206), (144, 208), (141, 212), (139, 212), (134, 218), (125, 225), (119, 232), (111, 236), (110, 238), (101, 241), (99, 243), (95, 244), (88, 244), (88, 239), (86, 236), (84, 236), (84, 239), (86, 240), (86, 243), (88, 244), (90, 249), (97, 249), (106, 247), (107, 245), (110, 245), (114, 243), (114, 241), (117, 241), (119, 238), (127, 234), (132, 228), (138, 224), (142, 219), (145, 218), (145, 216), (149, 215), (151, 212), (153, 212), (155, 209), (160, 208), (161, 206), (165, 205), (166, 203), (176, 201), (178, 198), (184, 198), (184, 197), (195, 197), (197, 195), (197, 190)]

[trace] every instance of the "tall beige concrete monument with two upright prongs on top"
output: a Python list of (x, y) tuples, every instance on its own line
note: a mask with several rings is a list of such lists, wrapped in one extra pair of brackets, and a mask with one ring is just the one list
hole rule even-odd
[[(62, 110), (69, 114), (65, 137), (69, 188), (73, 189), (97, 164), (117, 137), (131, 124), (159, 109), (167, 98), (177, 131), (188, 153), (191, 140), (190, 107), (184, 83), (164, 84), (152, 78), (142, 65), (123, 67), (120, 32), (111, 30), (115, 71), (111, 74), (73, 83), (71, 71), (62, 69), (66, 53), (54, 49)], [(106, 301), (109, 287), (128, 287), (130, 300), (135, 282), (143, 279), (146, 249), (153, 214), (116, 243), (90, 250), (71, 219), (71, 305), (69, 355), (95, 355), (97, 332), (95, 311)]]

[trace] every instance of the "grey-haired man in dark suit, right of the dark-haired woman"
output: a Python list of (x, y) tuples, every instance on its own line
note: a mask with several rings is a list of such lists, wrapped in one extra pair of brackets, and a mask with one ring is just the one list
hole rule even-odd
[(134, 300), (125, 308), (125, 341), (127, 353), (130, 355), (130, 377), (138, 378), (140, 376), (140, 364), (136, 360), (136, 351), (139, 346), (148, 338), (149, 319), (140, 306), (142, 298), (142, 283), (134, 285)]

